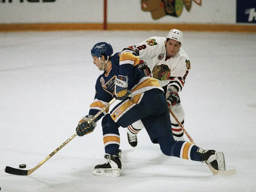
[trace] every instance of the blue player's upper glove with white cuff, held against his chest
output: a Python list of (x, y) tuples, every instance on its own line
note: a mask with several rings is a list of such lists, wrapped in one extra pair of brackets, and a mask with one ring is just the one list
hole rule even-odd
[(118, 100), (124, 100), (132, 92), (127, 90), (128, 76), (119, 75), (115, 80), (115, 95)]

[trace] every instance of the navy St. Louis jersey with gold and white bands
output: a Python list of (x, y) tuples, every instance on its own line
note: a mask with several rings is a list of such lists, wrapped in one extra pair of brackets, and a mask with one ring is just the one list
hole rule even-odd
[[(112, 66), (108, 71), (104, 71), (96, 81), (95, 97), (90, 105), (89, 115), (95, 115), (103, 108), (115, 95), (115, 79), (118, 75), (128, 76), (128, 90), (132, 91), (129, 97), (133, 97), (153, 88), (161, 89), (158, 81), (151, 77), (145, 77), (143, 72), (137, 67), (139, 57), (130, 52), (117, 52), (111, 57)], [(103, 112), (98, 119), (108, 113), (108, 109)]]

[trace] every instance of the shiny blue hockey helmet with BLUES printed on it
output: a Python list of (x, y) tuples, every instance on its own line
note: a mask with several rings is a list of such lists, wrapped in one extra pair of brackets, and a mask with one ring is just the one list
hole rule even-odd
[(92, 47), (92, 50), (91, 50), (92, 56), (97, 56), (98, 58), (100, 58), (102, 53), (105, 53), (106, 56), (109, 58), (110, 55), (113, 54), (112, 46), (107, 42), (100, 42), (100, 43), (95, 44)]

